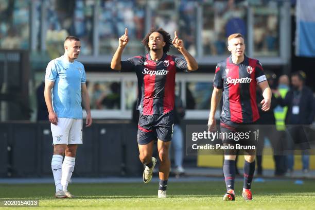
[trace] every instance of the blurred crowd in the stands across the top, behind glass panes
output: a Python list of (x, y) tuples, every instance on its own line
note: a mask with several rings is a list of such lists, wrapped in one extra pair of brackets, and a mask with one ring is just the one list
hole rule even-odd
[[(251, 2), (259, 4), (253, 7), (254, 54), (277, 56), (278, 2)], [(179, 31), (185, 47), (196, 56), (199, 22), (204, 55), (224, 55), (228, 53), (225, 40), (229, 34), (240, 32), (247, 37), (248, 33), (249, 3), (240, 0), (43, 0), (32, 1), (34, 14), (30, 0), (1, 0), (0, 3), (0, 48), (29, 49), (33, 27), (36, 49), (46, 49), (50, 58), (62, 54), (64, 37), (69, 34), (80, 38), (83, 55), (95, 55), (95, 51), (106, 55), (113, 53), (117, 38), (127, 27), (131, 47), (126, 50), (139, 54), (144, 53), (139, 41), (147, 27), (163, 27), (171, 35)], [(197, 21), (200, 11), (203, 11), (201, 21)], [(31, 15), (34, 22), (30, 21)], [(97, 49), (93, 48), (95, 37), (98, 38)], [(41, 39), (45, 47), (41, 46)]]

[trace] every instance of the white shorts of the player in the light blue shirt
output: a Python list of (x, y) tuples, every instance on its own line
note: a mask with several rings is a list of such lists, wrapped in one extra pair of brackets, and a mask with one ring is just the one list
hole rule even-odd
[(58, 118), (57, 126), (51, 124), (53, 145), (82, 144), (82, 119)]

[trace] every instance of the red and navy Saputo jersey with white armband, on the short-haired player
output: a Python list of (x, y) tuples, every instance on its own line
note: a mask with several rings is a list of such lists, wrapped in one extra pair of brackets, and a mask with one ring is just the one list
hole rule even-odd
[(250, 124), (259, 119), (256, 86), (265, 80), (263, 67), (256, 59), (244, 56), (244, 61), (237, 65), (230, 56), (218, 63), (214, 86), (223, 89), (221, 122)]

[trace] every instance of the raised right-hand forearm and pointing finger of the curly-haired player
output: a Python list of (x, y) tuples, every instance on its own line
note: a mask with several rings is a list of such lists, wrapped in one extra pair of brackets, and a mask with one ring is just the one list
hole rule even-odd
[(187, 62), (187, 68), (188, 71), (196, 71), (198, 69), (198, 63), (196, 59), (191, 56), (188, 51), (184, 47), (183, 40), (179, 39), (177, 36), (177, 32), (174, 32), (174, 39), (172, 41), (175, 48), (177, 48), (180, 53), (184, 56), (186, 62)]

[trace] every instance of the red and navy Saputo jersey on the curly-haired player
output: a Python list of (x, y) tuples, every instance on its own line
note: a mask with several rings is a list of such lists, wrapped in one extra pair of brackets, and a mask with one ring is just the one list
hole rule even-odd
[(138, 79), (137, 110), (140, 113), (165, 114), (173, 110), (176, 72), (188, 72), (184, 59), (163, 54), (161, 60), (154, 61), (147, 54), (121, 61), (121, 72), (132, 71)]

